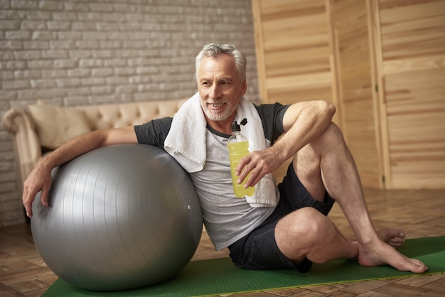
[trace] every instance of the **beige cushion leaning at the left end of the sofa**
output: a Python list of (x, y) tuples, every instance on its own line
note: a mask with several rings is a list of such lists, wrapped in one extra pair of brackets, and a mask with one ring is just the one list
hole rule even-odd
[(68, 139), (92, 130), (85, 112), (80, 109), (56, 107), (41, 100), (28, 108), (35, 121), (41, 146), (45, 148), (58, 148)]

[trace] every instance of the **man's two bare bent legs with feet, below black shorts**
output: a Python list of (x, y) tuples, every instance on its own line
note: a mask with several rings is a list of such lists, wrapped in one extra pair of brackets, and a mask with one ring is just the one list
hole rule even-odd
[(335, 124), (297, 153), (294, 168), (314, 199), (323, 200), (326, 190), (337, 200), (357, 242), (345, 239), (321, 213), (303, 208), (280, 220), (275, 230), (278, 247), (289, 259), (308, 257), (323, 262), (358, 257), (363, 266), (390, 264), (400, 271), (427, 270), (421, 261), (404, 257), (385, 243), (400, 244), (402, 239), (397, 237), (404, 236), (401, 230), (375, 231), (353, 157)]

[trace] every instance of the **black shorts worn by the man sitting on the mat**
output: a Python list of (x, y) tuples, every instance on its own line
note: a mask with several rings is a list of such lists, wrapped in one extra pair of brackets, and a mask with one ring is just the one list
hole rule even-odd
[(229, 247), (230, 258), (242, 269), (297, 269), (306, 272), (311, 269), (312, 262), (304, 259), (294, 264), (279, 250), (275, 241), (275, 226), (282, 217), (301, 207), (314, 207), (328, 215), (335, 200), (326, 193), (324, 202), (314, 200), (297, 178), (292, 163), (287, 169), (283, 182), (278, 185), (280, 199), (272, 215), (250, 234), (239, 239)]

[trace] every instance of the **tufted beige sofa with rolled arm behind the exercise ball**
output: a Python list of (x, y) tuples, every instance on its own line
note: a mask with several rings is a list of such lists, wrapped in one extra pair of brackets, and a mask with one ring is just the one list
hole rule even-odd
[[(43, 137), (45, 136), (42, 134), (45, 132), (41, 129), (41, 124), (53, 125), (56, 128), (60, 128), (60, 126), (66, 124), (56, 121), (54, 117), (43, 117), (43, 119), (41, 117), (33, 117), (33, 112), (36, 115), (36, 109), (33, 108), (43, 108), (41, 110), (44, 111), (50, 109), (55, 110), (59, 115), (60, 113), (63, 114), (59, 119), (63, 119), (63, 116), (65, 115), (64, 112), (69, 112), (69, 114), (75, 113), (76, 115), (80, 114), (82, 119), (85, 119), (85, 123), (83, 124), (86, 124), (87, 130), (94, 131), (97, 129), (143, 124), (151, 119), (161, 117), (173, 117), (173, 114), (178, 111), (179, 107), (181, 107), (185, 101), (186, 99), (171, 99), (149, 102), (89, 105), (83, 107), (54, 107), (50, 104), (43, 103), (43, 105), (40, 106), (38, 104), (30, 105), (26, 110), (10, 109), (4, 114), (4, 117), (2, 117), (1, 123), (7, 131), (14, 134), (14, 153), (16, 158), (16, 180), (18, 189), (23, 190), (23, 181), (43, 153), (55, 148), (44, 147), (42, 145)], [(31, 112), (30, 109), (33, 112)], [(39, 124), (39, 121), (47, 122), (40, 122)], [(73, 128), (73, 126), (80, 126), (80, 123), (68, 124), (65, 129), (66, 131), (63, 129), (58, 130), (63, 131), (63, 134), (66, 134), (68, 133), (68, 129)]]

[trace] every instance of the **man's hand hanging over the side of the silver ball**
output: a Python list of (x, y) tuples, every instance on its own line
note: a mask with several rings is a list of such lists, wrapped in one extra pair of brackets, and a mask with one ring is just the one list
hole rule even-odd
[(33, 216), (33, 200), (36, 194), (41, 192), (41, 202), (44, 206), (48, 206), (48, 192), (51, 188), (51, 169), (45, 168), (43, 164), (38, 164), (28, 175), (23, 183), (23, 205), (25, 206), (26, 215)]

